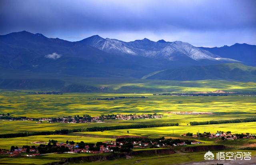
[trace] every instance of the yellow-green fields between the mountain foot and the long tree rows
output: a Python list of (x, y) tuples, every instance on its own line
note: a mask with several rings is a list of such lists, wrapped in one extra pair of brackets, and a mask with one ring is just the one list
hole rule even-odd
[[(147, 96), (147, 99), (96, 100), (118, 96)], [(171, 111), (212, 112), (212, 115), (176, 115)], [(0, 113), (27, 117), (62, 117), (89, 114), (161, 113), (160, 119), (105, 120), (104, 123), (36, 123), (36, 121), (0, 121), (0, 134), (24, 131), (54, 131), (96, 126), (179, 123), (190, 121), (227, 120), (254, 117), (253, 96), (166, 96), (152, 93), (64, 93), (63, 95), (32, 95), (25, 91), (2, 91)], [(249, 124), (249, 123), (248, 123)], [(241, 125), (241, 123), (235, 124)], [(14, 127), (15, 126), (15, 127)], [(203, 127), (203, 126), (198, 126)], [(212, 126), (210, 126), (212, 127)]]

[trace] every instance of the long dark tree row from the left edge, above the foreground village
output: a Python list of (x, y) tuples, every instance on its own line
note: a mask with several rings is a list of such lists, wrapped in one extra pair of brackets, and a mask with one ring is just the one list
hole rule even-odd
[(24, 132), (24, 133), (6, 133), (1, 134), (0, 138), (11, 138), (11, 137), (25, 137), (25, 136), (35, 136), (35, 135), (60, 135), (68, 134), (72, 132), (82, 132), (82, 131), (105, 131), (114, 129), (133, 129), (133, 128), (150, 128), (150, 127), (167, 127), (167, 126), (178, 126), (179, 123), (170, 124), (137, 124), (137, 125), (116, 125), (111, 127), (91, 127), (86, 129), (60, 129), (55, 131), (37, 131), (37, 132)]

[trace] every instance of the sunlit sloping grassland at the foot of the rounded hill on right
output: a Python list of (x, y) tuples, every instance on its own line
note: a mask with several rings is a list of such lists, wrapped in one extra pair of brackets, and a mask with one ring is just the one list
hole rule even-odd
[[(94, 80), (96, 79), (96, 80)], [(97, 82), (97, 78), (87, 80), (89, 84)], [(112, 80), (113, 81), (113, 80)], [(255, 82), (230, 82), (225, 80), (169, 81), (169, 80), (110, 80), (98, 81), (97, 86), (110, 87), (117, 92), (198, 92), (217, 89), (232, 92), (252, 92), (256, 90)]]

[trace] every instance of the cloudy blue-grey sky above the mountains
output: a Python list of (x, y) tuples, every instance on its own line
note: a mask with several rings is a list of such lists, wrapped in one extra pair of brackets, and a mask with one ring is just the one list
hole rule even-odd
[(0, 0), (0, 34), (256, 45), (256, 0)]

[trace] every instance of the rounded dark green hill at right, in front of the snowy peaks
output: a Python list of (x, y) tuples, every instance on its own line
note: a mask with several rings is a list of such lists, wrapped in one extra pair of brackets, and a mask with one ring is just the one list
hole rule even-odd
[(256, 68), (238, 63), (210, 66), (190, 66), (154, 72), (144, 76), (157, 80), (229, 80), (242, 82), (256, 81)]

